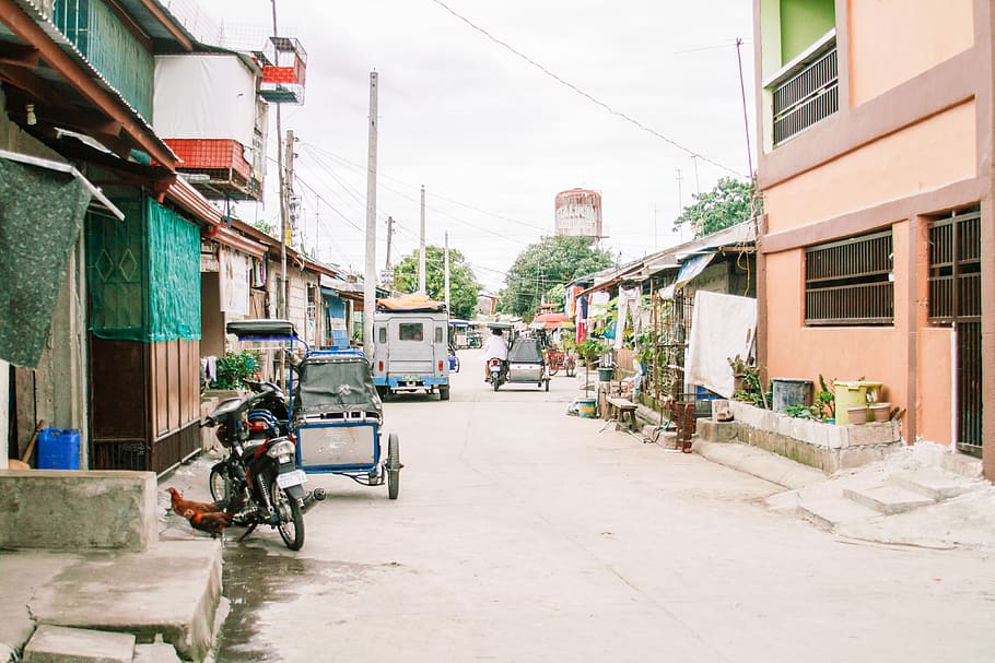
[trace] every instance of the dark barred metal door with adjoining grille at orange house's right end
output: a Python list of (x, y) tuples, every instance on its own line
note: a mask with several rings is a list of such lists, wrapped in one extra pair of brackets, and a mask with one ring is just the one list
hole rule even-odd
[(981, 211), (929, 226), (929, 321), (953, 329), (957, 449), (981, 457)]

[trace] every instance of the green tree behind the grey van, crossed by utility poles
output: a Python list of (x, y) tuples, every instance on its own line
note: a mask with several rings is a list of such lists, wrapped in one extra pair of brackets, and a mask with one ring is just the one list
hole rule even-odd
[[(394, 268), (394, 289), (413, 293), (418, 289), (419, 251), (411, 251)], [(425, 247), (425, 294), (445, 301), (446, 298), (446, 250), (443, 247)], [(466, 263), (460, 251), (449, 249), (449, 315), (454, 318), (472, 319), (477, 312), (477, 296), (480, 283), (473, 270)]]

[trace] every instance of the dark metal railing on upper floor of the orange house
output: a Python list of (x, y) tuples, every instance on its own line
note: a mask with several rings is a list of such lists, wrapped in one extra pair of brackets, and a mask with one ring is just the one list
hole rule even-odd
[(774, 145), (840, 109), (836, 39), (820, 40), (788, 64), (769, 87), (774, 98)]

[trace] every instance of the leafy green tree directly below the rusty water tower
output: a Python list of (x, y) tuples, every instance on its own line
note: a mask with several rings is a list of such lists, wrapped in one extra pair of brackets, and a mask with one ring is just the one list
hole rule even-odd
[[(608, 251), (594, 249), (584, 237), (554, 235), (530, 245), (512, 264), (505, 287), (499, 294), (499, 310), (530, 319), (543, 297), (552, 295), (562, 301), (561, 288), (585, 274), (613, 264)], [(558, 303), (559, 303), (558, 301)]]

